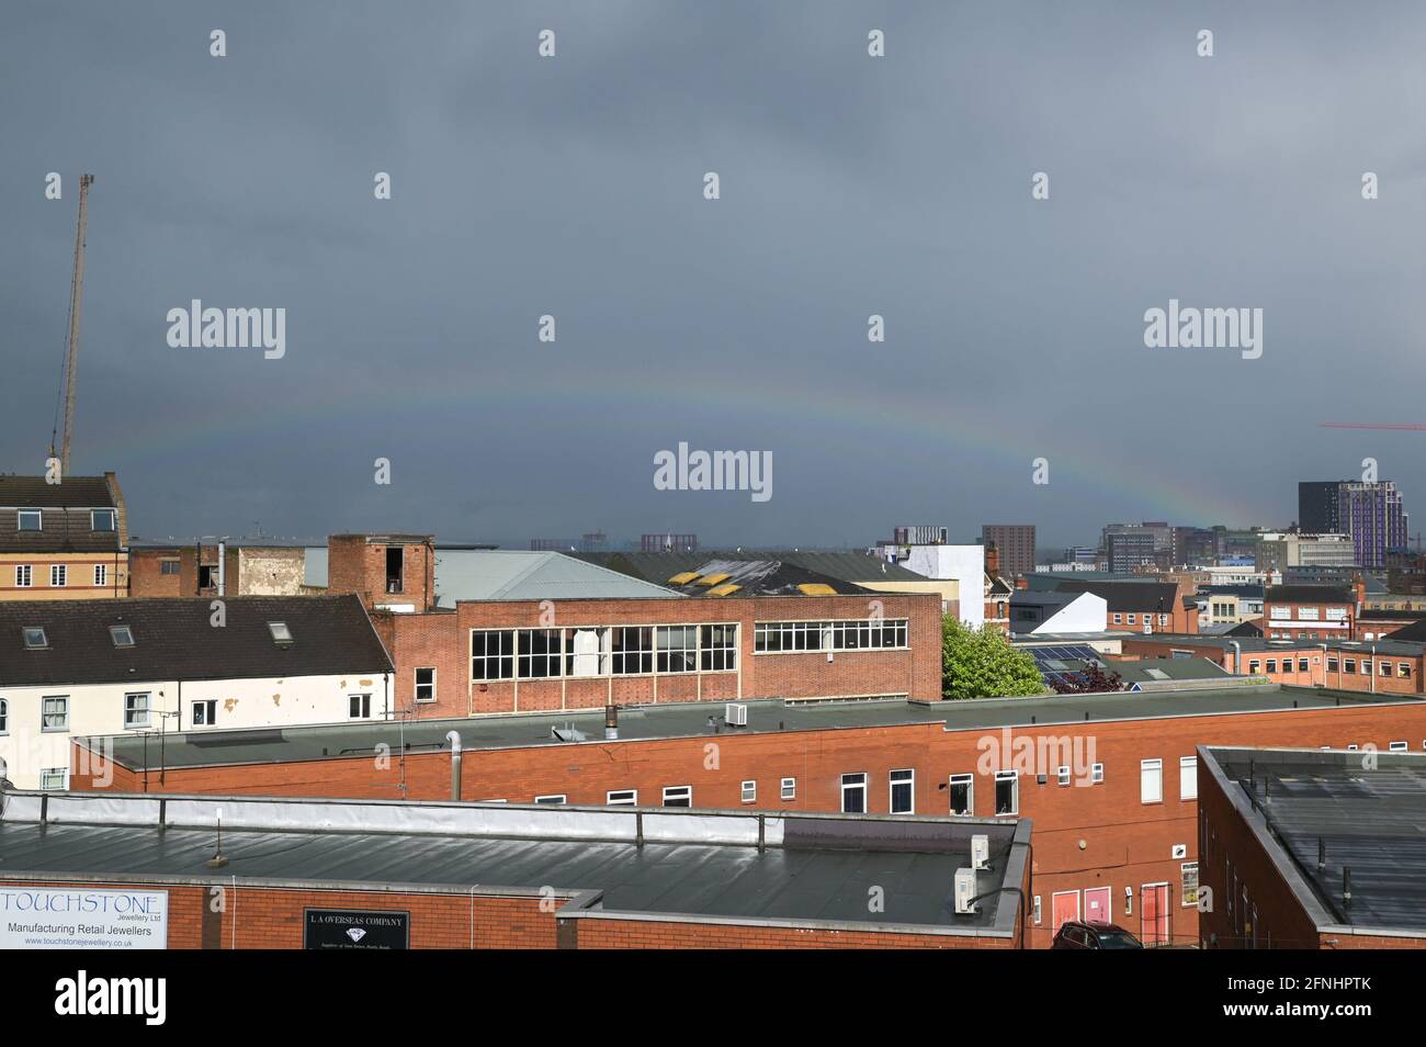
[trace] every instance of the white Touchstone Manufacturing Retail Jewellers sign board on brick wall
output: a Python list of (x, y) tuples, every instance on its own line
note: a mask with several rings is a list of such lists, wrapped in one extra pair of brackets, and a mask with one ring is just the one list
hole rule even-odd
[(167, 947), (167, 890), (0, 887), (0, 949)]

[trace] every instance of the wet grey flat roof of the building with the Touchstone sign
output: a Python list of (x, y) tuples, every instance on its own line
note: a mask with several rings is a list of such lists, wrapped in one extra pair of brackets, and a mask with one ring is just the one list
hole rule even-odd
[[(208, 869), (222, 813), (228, 864)], [(10, 793), (0, 883), (103, 879), (329, 890), (602, 897), (588, 917), (660, 914), (1010, 936), (1028, 820), (539, 805)], [(990, 863), (957, 914), (971, 836)], [(867, 904), (880, 887), (884, 911)], [(576, 899), (578, 900), (578, 899)], [(600, 902), (597, 909), (589, 909)]]

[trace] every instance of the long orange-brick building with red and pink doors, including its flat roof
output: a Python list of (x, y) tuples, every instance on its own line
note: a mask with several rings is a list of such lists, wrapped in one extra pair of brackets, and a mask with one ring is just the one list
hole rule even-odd
[[(702, 605), (702, 601), (693, 602)], [(456, 739), (451, 737), (451, 733)], [(1416, 739), (1426, 703), (1251, 680), (967, 702), (660, 703), (381, 725), (96, 740), (74, 789), (446, 799), (558, 806), (1031, 817), (1030, 940), (1112, 917), (1198, 941), (1196, 747)], [(459, 746), (459, 749), (456, 749)], [(86, 755), (88, 753), (88, 755)]]

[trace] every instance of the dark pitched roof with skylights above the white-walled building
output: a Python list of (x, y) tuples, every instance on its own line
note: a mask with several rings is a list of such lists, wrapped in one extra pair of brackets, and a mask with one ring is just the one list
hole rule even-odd
[[(0, 602), (0, 685), (215, 680), (391, 672), (361, 601), (347, 596), (227, 596), (225, 625), (210, 598)], [(284, 622), (278, 645), (268, 622)], [(127, 625), (134, 645), (114, 645)], [(43, 628), (29, 650), (23, 629)]]

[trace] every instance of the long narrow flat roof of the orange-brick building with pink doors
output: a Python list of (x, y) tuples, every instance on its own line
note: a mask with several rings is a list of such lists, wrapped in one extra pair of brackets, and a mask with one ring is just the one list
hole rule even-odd
[[(1326, 690), (1259, 683), (1233, 676), (1216, 686), (1198, 689), (1105, 693), (1045, 695), (1037, 698), (970, 699), (963, 702), (908, 702), (906, 699), (863, 699), (841, 702), (783, 702), (761, 699), (742, 702), (747, 706), (747, 726), (727, 727), (720, 702), (682, 702), (619, 708), (619, 742), (669, 737), (713, 737), (720, 735), (757, 735), (781, 730), (836, 730), (933, 723), (945, 730), (983, 730), (1031, 723), (1082, 723), (1084, 720), (1125, 720), (1164, 716), (1204, 716), (1221, 713), (1268, 712), (1273, 709), (1310, 709), (1335, 705), (1412, 703), (1409, 695), (1372, 695), (1359, 690)], [(710, 726), (709, 720), (714, 723)], [(575, 730), (583, 737), (556, 737), (555, 730)], [(238, 763), (288, 763), (335, 757), (369, 759), (378, 745), (392, 753), (441, 752), (449, 747), (446, 733), (455, 730), (461, 746), (472, 749), (522, 749), (549, 745), (617, 745), (605, 742), (603, 709), (576, 712), (501, 713), (431, 720), (376, 720), (302, 727), (262, 727), (240, 730), (190, 730), (164, 737), (158, 746), (150, 735), (147, 760), (157, 769), (160, 760), (173, 767), (228, 766)], [(83, 740), (83, 739), (80, 739)], [(98, 749), (108, 746), (120, 765), (143, 770), (145, 746), (143, 735), (128, 732), (90, 740)]]

